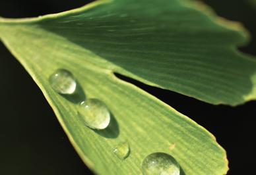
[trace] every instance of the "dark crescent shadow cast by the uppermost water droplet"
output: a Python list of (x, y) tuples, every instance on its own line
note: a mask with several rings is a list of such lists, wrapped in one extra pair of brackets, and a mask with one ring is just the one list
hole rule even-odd
[(77, 81), (77, 88), (73, 94), (61, 94), (61, 96), (75, 104), (79, 104), (86, 99), (84, 90), (82, 89), (82, 86), (78, 81)]

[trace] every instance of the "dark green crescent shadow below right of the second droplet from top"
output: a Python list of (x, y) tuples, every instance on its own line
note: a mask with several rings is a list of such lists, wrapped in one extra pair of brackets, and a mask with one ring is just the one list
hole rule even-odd
[(116, 138), (119, 136), (119, 125), (115, 116), (113, 116), (112, 112), (110, 112), (110, 124), (104, 130), (94, 130), (97, 134), (107, 138)]

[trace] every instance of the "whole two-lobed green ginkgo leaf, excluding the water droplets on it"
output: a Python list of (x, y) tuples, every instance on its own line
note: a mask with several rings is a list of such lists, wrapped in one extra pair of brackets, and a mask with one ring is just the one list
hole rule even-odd
[[(98, 174), (141, 174), (141, 162), (154, 152), (174, 156), (183, 174), (226, 174), (226, 153), (211, 134), (113, 74), (213, 104), (255, 99), (256, 62), (236, 49), (247, 42), (247, 33), (196, 6), (178, 0), (96, 1), (38, 18), (0, 18), (0, 38)], [(75, 75), (75, 95), (59, 95), (49, 86), (57, 68)], [(112, 112), (106, 130), (87, 128), (77, 114), (78, 103), (90, 97)], [(123, 141), (131, 153), (121, 161), (113, 148)]]

